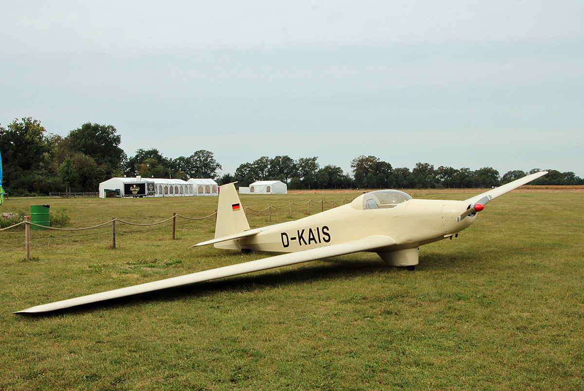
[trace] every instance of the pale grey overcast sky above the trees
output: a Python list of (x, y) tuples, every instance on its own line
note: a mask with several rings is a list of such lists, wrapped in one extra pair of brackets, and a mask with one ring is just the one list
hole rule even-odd
[(111, 124), (128, 156), (359, 155), (584, 177), (584, 2), (11, 1), (0, 123)]

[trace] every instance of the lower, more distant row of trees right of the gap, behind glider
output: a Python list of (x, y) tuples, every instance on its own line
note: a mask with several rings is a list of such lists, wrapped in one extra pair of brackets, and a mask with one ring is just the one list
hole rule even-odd
[[(351, 161), (352, 175), (343, 173), (338, 166), (319, 166), (317, 157), (293, 160), (290, 156), (261, 158), (240, 165), (235, 174), (225, 174), (220, 183), (237, 180), (241, 186), (248, 186), (255, 180), (277, 179), (288, 184), (289, 188), (485, 188), (500, 186), (541, 171), (538, 168), (529, 172), (512, 170), (500, 176), (492, 167), (471, 170), (468, 167), (439, 166), (430, 163), (416, 163), (408, 167), (394, 168), (376, 156), (358, 156)], [(573, 172), (559, 172), (547, 169), (546, 176), (531, 184), (538, 185), (582, 185), (584, 180)]]

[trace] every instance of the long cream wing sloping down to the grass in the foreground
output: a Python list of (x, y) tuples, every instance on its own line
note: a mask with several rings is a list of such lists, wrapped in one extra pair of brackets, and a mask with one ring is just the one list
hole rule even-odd
[(318, 249), (305, 250), (297, 253), (281, 254), (274, 257), (258, 259), (255, 261), (181, 275), (179, 277), (166, 278), (166, 280), (147, 282), (145, 284), (134, 285), (133, 287), (114, 289), (113, 291), (38, 305), (15, 313), (49, 312), (78, 305), (121, 298), (124, 296), (158, 291), (159, 289), (180, 287), (182, 285), (194, 284), (195, 282), (209, 281), (215, 280), (217, 278), (231, 277), (232, 275), (251, 273), (252, 271), (267, 270), (275, 267), (314, 261), (317, 259), (356, 253), (360, 251), (376, 250), (395, 245), (395, 243), (395, 240), (389, 236), (369, 236), (367, 238), (353, 240), (352, 242), (342, 243), (340, 245), (319, 247)]

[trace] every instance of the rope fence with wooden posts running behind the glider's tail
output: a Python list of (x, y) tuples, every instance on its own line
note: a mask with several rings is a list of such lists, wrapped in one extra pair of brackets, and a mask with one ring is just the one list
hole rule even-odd
[[(284, 207), (277, 207), (276, 205), (269, 205), (267, 208), (262, 209), (262, 210), (253, 210), (252, 208), (249, 207), (245, 207), (245, 210), (249, 210), (252, 212), (265, 212), (268, 211), (268, 219), (270, 222), (272, 222), (272, 208), (276, 209), (276, 210), (283, 210), (283, 209), (287, 209), (290, 208), (290, 217), (292, 217), (292, 207), (293, 205), (301, 207), (304, 205), (308, 205), (308, 214), (310, 215), (310, 204), (314, 203), (314, 204), (321, 204), (321, 211), (325, 210), (325, 204), (326, 205), (332, 205), (332, 207), (335, 207), (335, 204), (338, 205), (344, 205), (346, 202), (348, 201), (352, 201), (353, 198), (349, 198), (347, 200), (347, 198), (344, 198), (340, 201), (326, 201), (324, 198), (322, 198), (319, 201), (315, 201), (315, 200), (308, 200), (305, 203), (302, 204), (297, 204), (297, 203), (290, 203)], [(30, 227), (31, 226), (37, 226), (39, 228), (42, 229), (47, 229), (50, 231), (86, 231), (88, 229), (95, 229), (95, 228), (100, 228), (104, 225), (107, 224), (111, 224), (112, 225), (112, 249), (116, 248), (116, 222), (120, 222), (120, 224), (127, 224), (127, 225), (131, 225), (131, 226), (153, 226), (153, 225), (159, 225), (159, 224), (163, 224), (165, 222), (168, 222), (170, 220), (172, 220), (172, 240), (175, 240), (175, 232), (176, 232), (176, 218), (182, 218), (182, 219), (186, 219), (186, 220), (203, 220), (203, 219), (207, 219), (207, 218), (211, 218), (211, 217), (215, 217), (215, 223), (217, 222), (217, 210), (215, 210), (214, 213), (204, 216), (204, 217), (186, 217), (183, 215), (178, 215), (176, 213), (173, 213), (173, 215), (167, 219), (158, 221), (158, 222), (154, 222), (154, 223), (148, 223), (148, 224), (143, 224), (143, 223), (133, 223), (133, 222), (129, 222), (129, 221), (125, 221), (125, 220), (121, 220), (119, 218), (116, 217), (112, 217), (112, 219), (110, 221), (106, 221), (103, 222), (102, 224), (98, 224), (98, 225), (93, 225), (93, 226), (89, 226), (89, 227), (84, 227), (84, 228), (55, 228), (55, 227), (50, 227), (50, 226), (44, 226), (44, 225), (39, 225), (36, 223), (33, 223), (30, 221), (30, 216), (26, 216), (24, 221), (21, 221), (17, 224), (8, 226), (6, 228), (2, 228), (0, 229), (0, 231), (7, 231), (8, 229), (11, 228), (15, 228), (19, 225), (25, 225), (25, 259), (26, 260), (30, 260)]]

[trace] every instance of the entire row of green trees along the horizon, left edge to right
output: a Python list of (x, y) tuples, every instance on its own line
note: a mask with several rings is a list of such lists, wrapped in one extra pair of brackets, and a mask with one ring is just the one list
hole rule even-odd
[[(492, 167), (468, 167), (416, 163), (415, 167), (392, 167), (376, 156), (358, 156), (352, 173), (335, 165), (322, 166), (318, 157), (262, 156), (242, 163), (233, 174), (221, 174), (213, 152), (201, 149), (190, 156), (166, 158), (158, 149), (138, 149), (128, 156), (120, 148), (121, 136), (112, 125), (85, 123), (62, 137), (47, 132), (39, 120), (15, 119), (0, 125), (0, 151), (4, 188), (11, 196), (48, 194), (57, 191), (97, 191), (99, 183), (112, 177), (211, 178), (219, 184), (238, 181), (249, 186), (256, 180), (281, 180), (291, 189), (316, 188), (469, 188), (492, 187), (518, 179), (529, 172), (512, 170), (500, 176)], [(533, 181), (540, 185), (581, 185), (573, 172), (550, 171)]]

